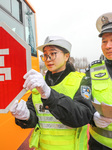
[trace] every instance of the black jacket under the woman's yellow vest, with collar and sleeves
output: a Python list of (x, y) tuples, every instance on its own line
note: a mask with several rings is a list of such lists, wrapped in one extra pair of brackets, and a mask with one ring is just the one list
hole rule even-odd
[[(45, 80), (49, 86), (53, 84), (56, 85), (61, 82), (71, 71), (74, 71), (74, 69), (71, 68), (70, 65), (67, 65), (63, 72), (53, 75), (48, 71)], [(59, 76), (60, 78), (57, 80)], [(81, 84), (88, 85), (89, 83), (85, 80), (85, 78), (83, 78)], [(59, 94), (55, 90), (51, 89), (50, 97), (47, 100), (42, 99), (44, 109), (48, 106), (49, 111), (58, 120), (71, 127), (81, 127), (90, 123), (95, 109), (92, 106), (91, 100), (84, 98), (80, 94), (80, 88), (81, 87), (79, 87), (79, 90), (74, 95), (73, 100), (64, 94)], [(27, 106), (30, 110), (30, 119), (28, 121), (16, 119), (15, 121), (16, 124), (22, 128), (33, 128), (38, 123), (38, 118), (32, 103), (32, 96), (29, 97)]]

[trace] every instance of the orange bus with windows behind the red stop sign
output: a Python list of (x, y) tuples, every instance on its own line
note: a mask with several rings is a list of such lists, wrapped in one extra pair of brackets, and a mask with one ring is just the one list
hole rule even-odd
[[(31, 47), (32, 68), (39, 71), (36, 12), (28, 0), (0, 0), (0, 22), (8, 25)], [(22, 99), (27, 100), (31, 91)], [(0, 114), (0, 149), (20, 150), (31, 129), (21, 129), (10, 112)], [(27, 150), (28, 148), (24, 148)]]

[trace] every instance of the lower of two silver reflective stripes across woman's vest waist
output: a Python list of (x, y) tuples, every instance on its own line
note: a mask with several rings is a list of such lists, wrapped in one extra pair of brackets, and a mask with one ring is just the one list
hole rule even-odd
[(41, 128), (46, 129), (72, 129), (63, 124), (54, 124), (54, 123), (39, 123)]

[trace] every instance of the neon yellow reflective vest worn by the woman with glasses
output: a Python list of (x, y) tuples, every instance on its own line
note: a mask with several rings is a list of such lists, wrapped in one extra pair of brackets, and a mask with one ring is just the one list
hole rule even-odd
[[(62, 82), (51, 88), (73, 99), (84, 74), (71, 72)], [(87, 150), (87, 125), (70, 128), (57, 120), (49, 110), (43, 109), (40, 94), (32, 91), (33, 104), (39, 118), (39, 125), (30, 138), (30, 147), (38, 150)]]

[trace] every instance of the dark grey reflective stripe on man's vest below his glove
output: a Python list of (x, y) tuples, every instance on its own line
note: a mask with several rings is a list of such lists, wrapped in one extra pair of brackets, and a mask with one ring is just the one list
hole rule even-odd
[(104, 137), (107, 137), (107, 138), (112, 138), (112, 131), (108, 131), (108, 130), (104, 130), (104, 129), (101, 129), (101, 128), (96, 128), (96, 127), (92, 127), (91, 128), (98, 134), (104, 136)]

